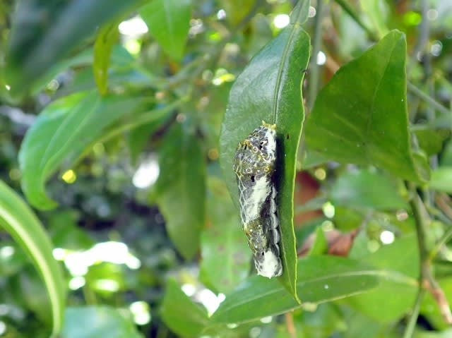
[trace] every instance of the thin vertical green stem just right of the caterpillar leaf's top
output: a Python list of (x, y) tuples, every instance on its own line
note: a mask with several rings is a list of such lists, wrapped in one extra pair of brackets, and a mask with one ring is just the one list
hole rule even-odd
[(314, 42), (312, 44), (311, 60), (309, 61), (309, 93), (308, 107), (311, 111), (319, 88), (319, 65), (317, 64), (317, 55), (320, 52), (321, 34), (322, 34), (322, 12), (323, 0), (317, 0), (317, 11), (314, 22)]

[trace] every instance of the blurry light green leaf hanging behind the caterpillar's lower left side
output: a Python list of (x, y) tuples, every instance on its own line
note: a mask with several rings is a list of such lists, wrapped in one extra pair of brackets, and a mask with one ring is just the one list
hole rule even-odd
[(200, 275), (204, 284), (225, 294), (248, 275), (250, 251), (225, 184), (213, 177), (208, 183), (210, 227), (201, 236)]

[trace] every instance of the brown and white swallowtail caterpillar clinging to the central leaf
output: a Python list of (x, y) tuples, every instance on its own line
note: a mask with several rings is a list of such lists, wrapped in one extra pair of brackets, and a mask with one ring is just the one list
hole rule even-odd
[(257, 273), (276, 277), (283, 273), (276, 207), (276, 125), (262, 125), (237, 146), (232, 169), (239, 186), (242, 226)]

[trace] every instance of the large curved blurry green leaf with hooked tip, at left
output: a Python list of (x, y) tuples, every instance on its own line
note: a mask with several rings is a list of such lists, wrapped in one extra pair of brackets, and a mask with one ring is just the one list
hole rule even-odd
[[(44, 183), (66, 160), (73, 162), (105, 128), (143, 104), (143, 99), (82, 92), (49, 104), (28, 130), (20, 147), (22, 189), (28, 201), (45, 210), (57, 204)], [(155, 118), (159, 117), (155, 114)]]

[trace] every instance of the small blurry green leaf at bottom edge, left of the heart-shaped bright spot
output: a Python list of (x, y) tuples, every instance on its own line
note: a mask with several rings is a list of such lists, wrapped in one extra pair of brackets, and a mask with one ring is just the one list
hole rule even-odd
[(191, 301), (174, 279), (167, 281), (162, 319), (181, 337), (199, 337), (208, 323), (206, 310)]

